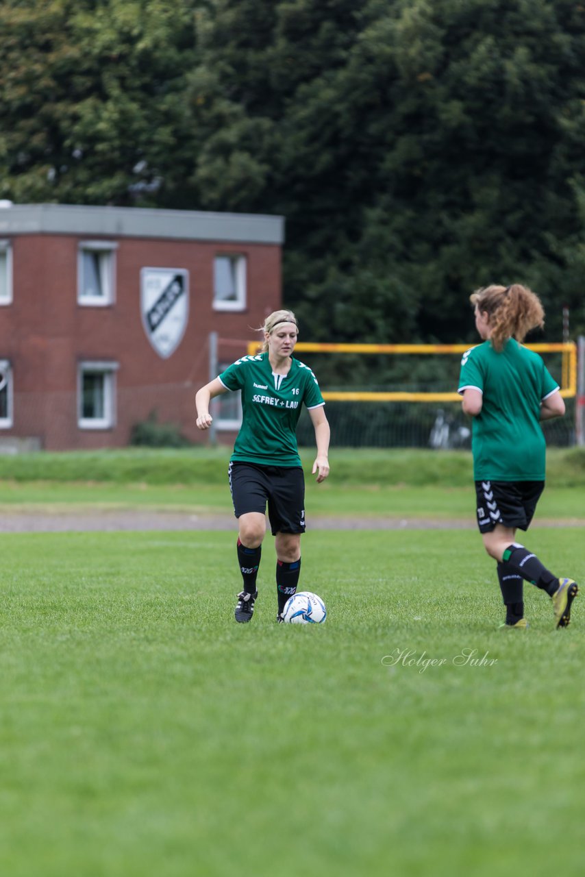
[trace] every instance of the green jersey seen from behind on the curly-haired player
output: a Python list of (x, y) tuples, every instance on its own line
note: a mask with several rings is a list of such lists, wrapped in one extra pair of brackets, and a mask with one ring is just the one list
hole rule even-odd
[(458, 392), (465, 389), (483, 396), (472, 432), (475, 481), (544, 481), (540, 403), (559, 385), (539, 354), (515, 339), (501, 353), (484, 341), (463, 354)]

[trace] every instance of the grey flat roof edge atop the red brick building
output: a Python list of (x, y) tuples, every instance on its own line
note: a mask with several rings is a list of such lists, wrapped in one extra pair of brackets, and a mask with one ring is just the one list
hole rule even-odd
[(0, 236), (75, 234), (282, 244), (284, 217), (203, 210), (145, 210), (77, 204), (0, 206)]

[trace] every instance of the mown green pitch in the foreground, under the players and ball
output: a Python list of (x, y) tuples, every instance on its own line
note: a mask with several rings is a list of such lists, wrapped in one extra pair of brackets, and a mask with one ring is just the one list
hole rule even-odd
[[(526, 544), (585, 582), (582, 530)], [(275, 624), (270, 538), (248, 625), (233, 533), (2, 549), (0, 873), (582, 874), (583, 595), (498, 631), (476, 532), (310, 531), (318, 627)]]

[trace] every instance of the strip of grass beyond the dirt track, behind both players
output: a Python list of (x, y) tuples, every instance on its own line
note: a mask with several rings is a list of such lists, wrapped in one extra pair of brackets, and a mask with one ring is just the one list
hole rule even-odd
[[(307, 516), (468, 517), (475, 495), (471, 454), (409, 449), (338, 449), (323, 484), (303, 450)], [(30, 453), (0, 455), (0, 515), (35, 510), (185, 510), (231, 514), (230, 449)], [(585, 517), (585, 449), (548, 453), (547, 486), (538, 517)]]

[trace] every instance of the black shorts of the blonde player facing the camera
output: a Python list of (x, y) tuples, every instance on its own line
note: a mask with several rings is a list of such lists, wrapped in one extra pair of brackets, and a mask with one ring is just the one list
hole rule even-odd
[(233, 511), (266, 514), (272, 535), (304, 532), (304, 473), (300, 466), (259, 466), (230, 463), (228, 469)]

